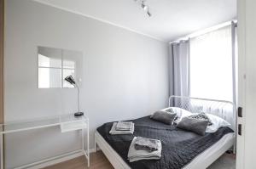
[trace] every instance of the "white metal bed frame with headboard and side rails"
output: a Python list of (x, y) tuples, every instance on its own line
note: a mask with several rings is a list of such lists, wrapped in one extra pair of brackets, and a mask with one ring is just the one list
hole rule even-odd
[[(218, 115), (224, 120), (229, 121), (230, 124), (232, 124), (232, 129), (235, 131), (235, 133), (226, 134), (223, 138), (218, 140), (216, 144), (206, 149), (201, 155), (196, 156), (195, 159), (190, 161), (183, 169), (206, 169), (232, 146), (234, 153), (236, 152), (236, 106), (233, 103), (224, 100), (171, 96), (169, 98), (169, 107), (174, 106), (174, 104), (176, 107), (189, 110), (192, 113), (207, 111), (207, 113)], [(110, 161), (114, 168), (131, 169), (108, 142), (102, 138), (101, 134), (96, 132), (95, 149), (98, 150), (98, 148), (102, 149), (102, 152), (106, 155), (108, 161)]]

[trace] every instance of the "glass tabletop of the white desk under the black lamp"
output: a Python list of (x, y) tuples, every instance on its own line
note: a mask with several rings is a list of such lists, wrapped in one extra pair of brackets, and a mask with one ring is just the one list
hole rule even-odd
[(15, 121), (1, 124), (0, 133), (20, 132), (44, 127), (55, 127), (67, 123), (88, 122), (88, 118), (83, 116), (75, 117), (73, 114), (57, 115), (47, 118), (33, 119), (29, 121)]

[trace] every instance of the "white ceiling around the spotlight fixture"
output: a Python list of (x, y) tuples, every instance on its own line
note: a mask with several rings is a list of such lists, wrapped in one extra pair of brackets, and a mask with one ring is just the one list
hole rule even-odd
[(170, 42), (236, 19), (236, 0), (147, 0), (148, 17), (134, 0), (36, 0)]

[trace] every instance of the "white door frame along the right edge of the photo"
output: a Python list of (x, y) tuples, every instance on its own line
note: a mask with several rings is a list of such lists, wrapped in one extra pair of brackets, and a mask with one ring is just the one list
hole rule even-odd
[(256, 1), (238, 0), (238, 105), (242, 107), (237, 136), (237, 169), (256, 168)]

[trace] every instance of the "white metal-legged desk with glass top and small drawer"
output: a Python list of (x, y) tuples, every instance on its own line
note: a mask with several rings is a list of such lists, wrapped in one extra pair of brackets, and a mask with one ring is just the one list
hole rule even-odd
[[(28, 130), (36, 130), (38, 128), (44, 127), (57, 127), (59, 126), (61, 132), (70, 132), (81, 130), (82, 148), (64, 155), (58, 155), (44, 161), (50, 161), (58, 157), (72, 155), (74, 153), (82, 152), (86, 159), (87, 164), (90, 166), (90, 151), (89, 151), (89, 119), (85, 116), (75, 117), (73, 114), (67, 115), (57, 115), (49, 118), (40, 118), (30, 121), (15, 121), (7, 124), (1, 124), (0, 135), (1, 135), (1, 169), (4, 169), (3, 160), (3, 134), (13, 133), (13, 132), (23, 132)], [(84, 129), (87, 129), (87, 149), (84, 149)], [(28, 166), (34, 166), (44, 161), (34, 162), (32, 164), (27, 164), (26, 166), (20, 166), (19, 168), (26, 168)]]

